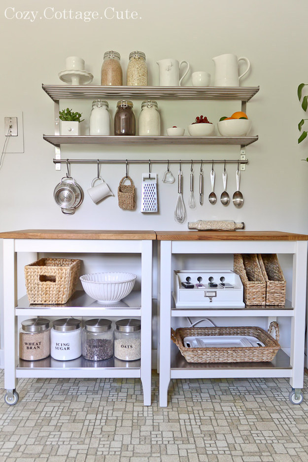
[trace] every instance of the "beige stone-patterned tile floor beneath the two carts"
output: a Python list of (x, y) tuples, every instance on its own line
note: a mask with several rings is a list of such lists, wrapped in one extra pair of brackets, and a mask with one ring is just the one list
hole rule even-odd
[(308, 462), (308, 377), (173, 380), (169, 405), (143, 406), (135, 379), (23, 379), (4, 403), (0, 462)]

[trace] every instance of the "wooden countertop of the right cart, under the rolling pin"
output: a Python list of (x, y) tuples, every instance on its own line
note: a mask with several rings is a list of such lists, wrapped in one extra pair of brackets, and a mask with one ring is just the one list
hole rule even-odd
[(158, 241), (308, 241), (306, 234), (283, 231), (156, 231)]

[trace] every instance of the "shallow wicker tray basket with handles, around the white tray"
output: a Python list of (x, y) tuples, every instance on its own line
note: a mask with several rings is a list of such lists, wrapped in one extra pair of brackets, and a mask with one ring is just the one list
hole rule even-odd
[[(184, 327), (171, 329), (171, 339), (187, 362), (264, 362), (272, 361), (280, 348), (279, 327), (272, 321), (269, 332), (274, 327), (276, 340), (261, 327)], [(250, 335), (264, 343), (264, 347), (226, 348), (185, 348), (183, 339), (205, 335)]]

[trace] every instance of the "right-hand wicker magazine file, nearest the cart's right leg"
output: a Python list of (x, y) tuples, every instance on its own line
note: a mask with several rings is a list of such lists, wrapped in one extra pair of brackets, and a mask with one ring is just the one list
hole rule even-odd
[(284, 305), (286, 282), (277, 255), (275, 253), (258, 253), (258, 260), (266, 281), (266, 304)]

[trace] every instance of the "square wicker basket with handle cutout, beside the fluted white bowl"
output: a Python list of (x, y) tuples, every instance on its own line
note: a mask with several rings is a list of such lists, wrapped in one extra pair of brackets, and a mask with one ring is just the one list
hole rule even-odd
[(63, 304), (75, 290), (81, 260), (41, 258), (25, 266), (30, 303)]

